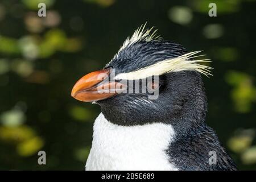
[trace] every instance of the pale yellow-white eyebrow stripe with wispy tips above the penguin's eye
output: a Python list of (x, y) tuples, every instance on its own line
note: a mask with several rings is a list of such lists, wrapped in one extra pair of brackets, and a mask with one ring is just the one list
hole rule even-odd
[(141, 68), (137, 71), (128, 72), (128, 73), (119, 73), (117, 76), (115, 76), (115, 79), (138, 80), (138, 79), (143, 79), (150, 76), (163, 75), (164, 73), (180, 72), (185, 70), (197, 71), (208, 77), (212, 75), (210, 73), (210, 69), (213, 69), (213, 68), (208, 67), (207, 65), (201, 65), (199, 63), (210, 62), (209, 59), (189, 60), (193, 57), (199, 57), (200, 55), (193, 56), (199, 52), (201, 51), (185, 53), (184, 55), (181, 55), (179, 57), (159, 61), (158, 63), (155, 63), (145, 68)]

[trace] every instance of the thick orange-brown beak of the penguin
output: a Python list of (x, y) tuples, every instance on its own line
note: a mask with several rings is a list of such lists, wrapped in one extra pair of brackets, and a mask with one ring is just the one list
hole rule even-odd
[(112, 97), (122, 90), (125, 85), (109, 81), (110, 68), (89, 73), (80, 78), (73, 86), (71, 96), (83, 102), (100, 101)]

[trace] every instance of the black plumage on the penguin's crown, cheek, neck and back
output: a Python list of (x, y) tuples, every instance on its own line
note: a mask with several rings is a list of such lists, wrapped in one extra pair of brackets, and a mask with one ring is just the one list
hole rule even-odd
[[(127, 73), (186, 52), (180, 44), (166, 40), (139, 40), (121, 49), (105, 68), (114, 68), (116, 74)], [(207, 97), (200, 73), (166, 73), (160, 75), (159, 84), (159, 98), (151, 104), (143, 102), (148, 93), (118, 94), (97, 104), (106, 119), (117, 125), (171, 124), (176, 137), (165, 152), (181, 170), (236, 170), (216, 133), (205, 123)], [(216, 152), (216, 164), (209, 164), (210, 151)]]

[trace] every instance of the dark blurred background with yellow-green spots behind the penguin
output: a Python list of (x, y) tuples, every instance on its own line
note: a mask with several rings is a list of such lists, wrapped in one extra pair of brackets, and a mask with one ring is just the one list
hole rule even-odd
[[(38, 3), (47, 7), (39, 18)], [(209, 17), (209, 3), (217, 17)], [(207, 123), (239, 169), (256, 169), (256, 2), (252, 0), (1, 0), (0, 169), (83, 170), (97, 105), (72, 86), (101, 69), (141, 24), (188, 51), (204, 50)], [(38, 151), (47, 165), (38, 165)]]

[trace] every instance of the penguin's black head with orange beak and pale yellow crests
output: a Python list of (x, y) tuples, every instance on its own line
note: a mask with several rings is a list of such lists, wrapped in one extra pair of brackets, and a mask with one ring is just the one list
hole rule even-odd
[(138, 28), (104, 69), (77, 81), (72, 97), (100, 105), (117, 125), (200, 122), (207, 107), (200, 73), (210, 75), (210, 67), (199, 63), (208, 60), (193, 60), (200, 51), (187, 52), (152, 30)]

